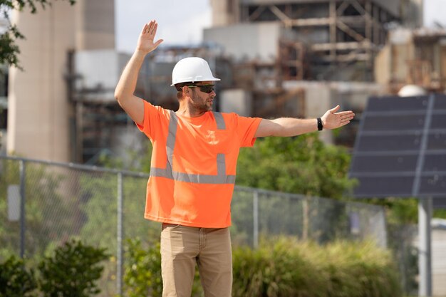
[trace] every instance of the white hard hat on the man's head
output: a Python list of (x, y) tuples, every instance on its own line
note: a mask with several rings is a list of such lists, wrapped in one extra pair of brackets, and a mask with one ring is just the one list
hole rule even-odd
[(184, 58), (175, 64), (172, 71), (172, 85), (177, 83), (186, 83), (192, 81), (217, 81), (219, 78), (214, 78), (209, 64), (202, 58), (190, 57)]

